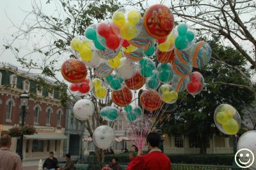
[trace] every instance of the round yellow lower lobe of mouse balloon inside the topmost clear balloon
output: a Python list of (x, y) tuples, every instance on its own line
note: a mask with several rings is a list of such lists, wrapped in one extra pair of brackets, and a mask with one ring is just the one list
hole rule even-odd
[(137, 29), (131, 24), (131, 22), (126, 22), (120, 28), (120, 36), (125, 40), (132, 40), (132, 38), (136, 37)]

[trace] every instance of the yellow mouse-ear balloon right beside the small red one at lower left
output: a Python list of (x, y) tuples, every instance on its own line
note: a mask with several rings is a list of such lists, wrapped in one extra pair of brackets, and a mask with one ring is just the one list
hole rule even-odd
[(93, 79), (92, 81), (93, 85), (93, 96), (99, 99), (102, 99), (106, 97), (107, 89), (102, 84), (102, 81), (100, 79)]

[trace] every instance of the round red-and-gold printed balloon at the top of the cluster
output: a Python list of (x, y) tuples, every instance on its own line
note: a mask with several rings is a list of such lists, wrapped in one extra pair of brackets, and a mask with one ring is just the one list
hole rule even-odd
[(143, 24), (150, 36), (162, 39), (172, 32), (174, 26), (173, 14), (167, 6), (154, 4), (145, 12)]

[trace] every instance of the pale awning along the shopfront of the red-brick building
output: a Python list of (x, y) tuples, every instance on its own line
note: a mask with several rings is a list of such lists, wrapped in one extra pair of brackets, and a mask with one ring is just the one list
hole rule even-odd
[(26, 139), (42, 139), (42, 140), (60, 140), (68, 139), (67, 136), (61, 133), (37, 133), (33, 135), (24, 135)]

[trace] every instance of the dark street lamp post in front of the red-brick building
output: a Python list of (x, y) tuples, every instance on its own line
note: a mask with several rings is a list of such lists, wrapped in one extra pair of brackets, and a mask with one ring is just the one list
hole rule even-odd
[[(29, 95), (24, 91), (20, 95), (20, 107), (21, 107), (21, 127), (24, 127), (24, 118), (26, 116), (26, 109), (28, 107), (28, 100), (29, 100)], [(20, 155), (21, 161), (23, 160), (23, 155), (22, 155), (22, 150), (23, 150), (23, 134), (20, 136), (20, 141), (19, 141), (19, 150), (18, 150), (18, 155)]]

